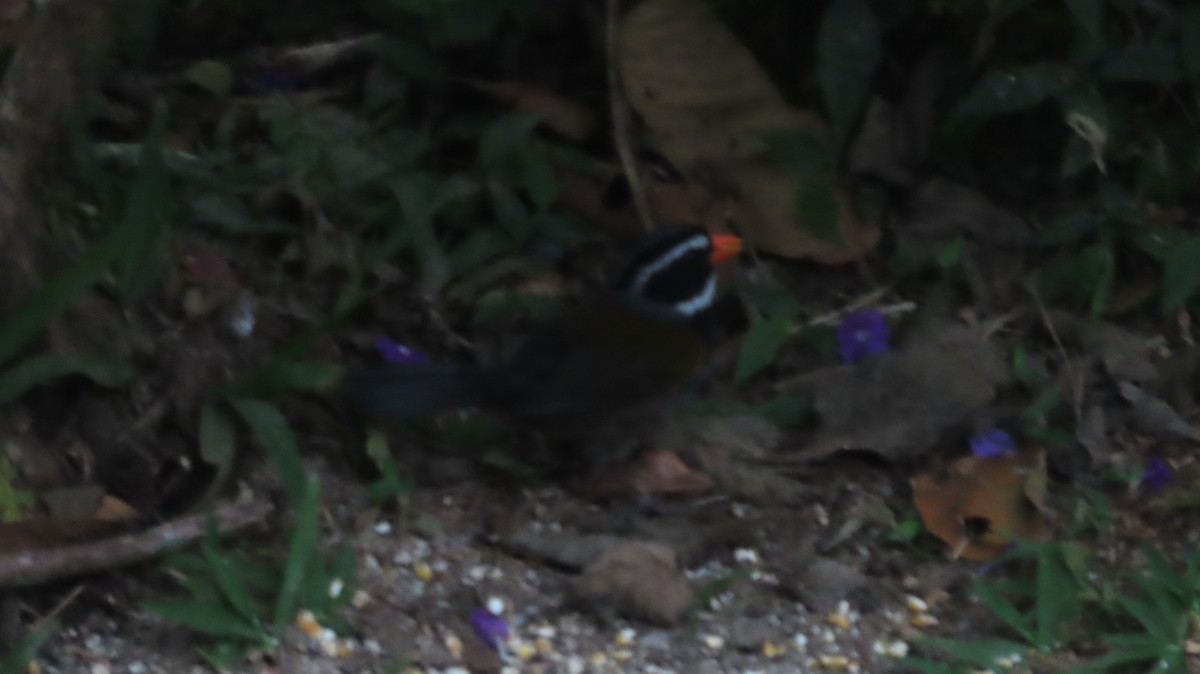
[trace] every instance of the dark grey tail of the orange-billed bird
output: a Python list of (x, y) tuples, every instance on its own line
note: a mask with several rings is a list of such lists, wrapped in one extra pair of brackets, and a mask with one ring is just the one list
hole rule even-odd
[(378, 419), (414, 419), (487, 402), (485, 375), (456, 365), (379, 365), (347, 379), (359, 410)]

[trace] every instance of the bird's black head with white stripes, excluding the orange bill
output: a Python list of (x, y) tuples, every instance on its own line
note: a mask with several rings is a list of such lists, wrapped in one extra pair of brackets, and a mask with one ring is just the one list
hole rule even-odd
[(715, 259), (709, 233), (698, 225), (670, 225), (647, 236), (616, 277), (617, 293), (686, 317), (713, 306)]

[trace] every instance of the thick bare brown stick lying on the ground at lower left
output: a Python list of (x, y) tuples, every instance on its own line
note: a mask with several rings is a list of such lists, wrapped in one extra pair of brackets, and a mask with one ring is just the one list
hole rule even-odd
[[(272, 510), (269, 503), (250, 501), (218, 506), (212, 516), (217, 531), (230, 534), (265, 520)], [(146, 561), (199, 538), (206, 522), (208, 514), (192, 514), (136, 534), (0, 555), (0, 588), (28, 588)]]

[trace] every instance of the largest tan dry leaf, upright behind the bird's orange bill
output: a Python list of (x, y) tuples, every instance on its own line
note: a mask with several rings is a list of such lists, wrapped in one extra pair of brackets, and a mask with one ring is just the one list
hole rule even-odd
[(625, 16), (619, 37), (630, 104), (684, 175), (738, 198), (733, 217), (752, 245), (824, 264), (852, 261), (875, 247), (878, 225), (858, 218), (832, 175), (817, 182), (835, 195), (840, 241), (805, 227), (797, 194), (811, 177), (775, 161), (763, 136), (797, 132), (828, 148), (829, 130), (818, 115), (787, 107), (703, 0), (647, 0)]

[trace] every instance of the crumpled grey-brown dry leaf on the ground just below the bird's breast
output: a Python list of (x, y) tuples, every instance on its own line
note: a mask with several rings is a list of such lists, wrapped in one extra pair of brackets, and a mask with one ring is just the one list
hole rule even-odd
[(797, 503), (804, 485), (768, 465), (784, 433), (754, 415), (682, 417), (666, 423), (655, 446), (678, 452), (730, 497), (754, 503)]

